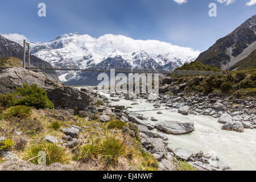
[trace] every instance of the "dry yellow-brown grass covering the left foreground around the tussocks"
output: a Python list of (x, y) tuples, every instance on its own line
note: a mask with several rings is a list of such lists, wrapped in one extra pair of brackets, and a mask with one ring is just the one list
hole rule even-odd
[[(14, 147), (11, 152), (18, 155), (20, 159), (24, 157), (24, 151), (29, 147), (43, 142), (43, 139), (46, 135), (51, 135), (56, 137), (59, 141), (62, 137), (65, 136), (59, 129), (49, 127), (53, 122), (60, 124), (60, 128), (69, 127), (70, 125), (77, 125), (82, 127), (79, 140), (86, 144), (95, 144), (98, 145), (102, 141), (106, 140), (108, 137), (114, 137), (118, 140), (123, 141), (127, 134), (122, 133), (122, 129), (108, 129), (108, 123), (101, 123), (97, 120), (86, 121), (85, 118), (80, 118), (78, 116), (73, 116), (72, 118), (65, 118), (65, 121), (60, 120), (52, 115), (57, 115), (58, 111), (56, 110), (36, 110), (32, 109), (31, 117), (28, 119), (32, 124), (39, 124), (42, 129), (34, 133), (28, 133), (20, 125), (14, 126), (15, 121), (9, 121), (7, 119), (2, 119), (0, 122), (0, 128), (5, 129), (5, 132), (2, 133), (5, 137), (12, 137), (14, 141), (20, 140), (20, 138), (26, 138), (27, 144), (23, 147)], [(52, 114), (52, 115), (51, 115)], [(116, 119), (112, 117), (112, 119)], [(22, 134), (17, 135), (16, 131), (20, 131)], [(127, 148), (125, 153), (118, 157), (118, 162), (114, 166), (106, 167), (104, 160), (100, 160), (99, 156), (96, 160), (86, 160), (86, 162), (80, 161), (81, 159), (81, 147), (76, 148), (76, 150), (69, 153), (71, 155), (73, 162), (69, 165), (60, 165), (56, 164), (55, 166), (51, 165), (49, 167), (35, 166), (33, 164), (26, 164), (24, 162), (10, 163), (4, 162), (0, 164), (3, 170), (18, 169), (20, 170), (86, 170), (86, 171), (101, 171), (101, 170), (158, 170), (158, 166), (155, 165), (155, 159), (150, 154), (144, 154), (144, 151), (141, 148), (141, 143), (137, 139), (131, 138), (130, 135), (123, 142), (124, 146)], [(72, 164), (74, 163), (75, 164)], [(10, 165), (8, 167), (8, 165)], [(75, 166), (74, 166), (75, 165)]]

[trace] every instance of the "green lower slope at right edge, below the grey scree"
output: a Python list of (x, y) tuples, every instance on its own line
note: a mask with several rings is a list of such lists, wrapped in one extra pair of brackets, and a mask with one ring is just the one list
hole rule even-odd
[(231, 69), (248, 69), (253, 68), (256, 69), (256, 49), (251, 52), (249, 56), (247, 56), (245, 59), (239, 61), (237, 64), (233, 65)]

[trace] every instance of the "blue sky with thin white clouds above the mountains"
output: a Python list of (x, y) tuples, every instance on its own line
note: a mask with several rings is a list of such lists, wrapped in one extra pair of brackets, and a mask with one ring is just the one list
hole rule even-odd
[[(46, 17), (38, 16), (40, 2), (46, 3)], [(217, 17), (208, 15), (212, 2)], [(21, 34), (31, 42), (69, 32), (121, 34), (205, 51), (255, 13), (256, 0), (9, 0), (1, 2), (0, 34)]]

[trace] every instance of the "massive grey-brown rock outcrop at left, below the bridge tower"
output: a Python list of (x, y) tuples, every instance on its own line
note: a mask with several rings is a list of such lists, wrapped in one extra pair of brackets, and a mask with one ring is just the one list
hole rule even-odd
[(13, 93), (23, 84), (36, 84), (46, 90), (55, 109), (74, 109), (95, 111), (96, 97), (79, 89), (65, 86), (46, 74), (36, 73), (21, 67), (0, 70), (0, 94)]

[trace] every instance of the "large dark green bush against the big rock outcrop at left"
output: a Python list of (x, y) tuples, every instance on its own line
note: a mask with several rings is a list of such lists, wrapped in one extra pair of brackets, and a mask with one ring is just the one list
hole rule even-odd
[(23, 85), (23, 88), (16, 88), (14, 95), (23, 96), (18, 101), (19, 105), (36, 107), (36, 109), (53, 109), (54, 107), (48, 99), (46, 91), (36, 85)]

